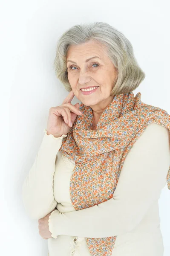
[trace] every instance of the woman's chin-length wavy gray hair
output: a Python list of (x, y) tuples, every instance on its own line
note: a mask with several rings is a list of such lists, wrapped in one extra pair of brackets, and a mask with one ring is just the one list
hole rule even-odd
[(54, 68), (57, 78), (66, 90), (72, 90), (67, 76), (66, 65), (69, 46), (82, 44), (91, 40), (96, 40), (103, 44), (107, 50), (109, 59), (118, 71), (110, 95), (114, 96), (135, 90), (144, 80), (145, 73), (141, 70), (135, 59), (132, 44), (120, 31), (104, 22), (72, 26), (59, 38)]

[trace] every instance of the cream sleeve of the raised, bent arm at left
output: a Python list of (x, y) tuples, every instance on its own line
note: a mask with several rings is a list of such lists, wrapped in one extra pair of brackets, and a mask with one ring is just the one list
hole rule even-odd
[(58, 150), (61, 148), (61, 137), (47, 135), (44, 137), (35, 161), (22, 186), (22, 199), (26, 212), (33, 219), (39, 219), (52, 212), (57, 205), (54, 198), (53, 176)]

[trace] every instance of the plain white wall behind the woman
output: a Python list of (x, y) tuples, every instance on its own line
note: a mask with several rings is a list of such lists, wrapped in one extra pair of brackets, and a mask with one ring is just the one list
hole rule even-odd
[[(134, 91), (170, 113), (168, 0), (1, 0), (0, 255), (47, 256), (47, 240), (23, 208), (21, 186), (37, 154), (49, 108), (68, 94), (56, 79), (56, 41), (78, 23), (107, 22), (131, 41), (146, 78)], [(79, 102), (76, 98), (72, 103)], [(170, 191), (162, 190), (161, 230), (170, 250)]]

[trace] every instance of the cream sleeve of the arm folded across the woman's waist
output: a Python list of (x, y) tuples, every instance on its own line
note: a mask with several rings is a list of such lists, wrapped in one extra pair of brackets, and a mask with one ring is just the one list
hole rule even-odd
[(159, 199), (169, 166), (169, 130), (151, 123), (127, 154), (113, 198), (77, 211), (54, 210), (49, 217), (52, 237), (101, 238), (130, 232)]

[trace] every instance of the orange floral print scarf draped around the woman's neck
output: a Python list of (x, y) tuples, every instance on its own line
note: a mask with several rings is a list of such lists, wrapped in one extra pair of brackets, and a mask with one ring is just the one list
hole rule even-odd
[[(81, 103), (77, 116), (59, 151), (75, 161), (70, 180), (70, 198), (75, 210), (100, 204), (113, 197), (118, 178), (133, 143), (154, 122), (169, 129), (170, 115), (161, 108), (141, 102), (141, 93), (122, 93), (101, 114), (92, 130), (92, 108)], [(167, 170), (170, 189), (170, 168)], [(116, 236), (86, 238), (92, 256), (111, 256)]]

